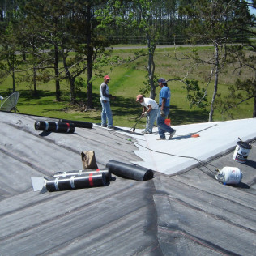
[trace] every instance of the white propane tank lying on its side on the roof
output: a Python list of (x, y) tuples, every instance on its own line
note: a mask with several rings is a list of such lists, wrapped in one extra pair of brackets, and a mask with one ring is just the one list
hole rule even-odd
[(222, 184), (238, 184), (241, 182), (243, 173), (237, 167), (225, 166), (223, 169), (216, 169), (218, 172), (215, 175), (216, 180)]

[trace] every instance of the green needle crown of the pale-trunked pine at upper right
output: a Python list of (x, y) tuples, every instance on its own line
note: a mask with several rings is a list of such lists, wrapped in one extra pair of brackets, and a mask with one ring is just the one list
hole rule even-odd
[[(181, 6), (180, 11), (191, 18), (186, 32), (193, 43), (228, 43), (240, 35), (241, 24), (250, 26), (249, 11), (240, 1), (198, 0)], [(243, 36), (245, 41), (247, 36)]]

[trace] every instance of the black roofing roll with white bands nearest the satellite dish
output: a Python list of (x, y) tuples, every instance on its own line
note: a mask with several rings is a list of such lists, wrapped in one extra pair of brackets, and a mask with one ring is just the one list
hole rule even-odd
[(36, 130), (48, 130), (55, 132), (66, 132), (74, 133), (75, 125), (68, 122), (47, 122), (47, 121), (36, 121), (35, 122)]

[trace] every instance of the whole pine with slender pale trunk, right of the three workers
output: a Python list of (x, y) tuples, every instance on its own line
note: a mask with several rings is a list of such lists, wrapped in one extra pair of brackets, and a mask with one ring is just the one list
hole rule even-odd
[(181, 12), (190, 17), (190, 26), (187, 30), (190, 41), (194, 44), (211, 44), (215, 48), (215, 54), (211, 59), (202, 60), (197, 54), (194, 55), (194, 64), (211, 66), (207, 84), (214, 79), (209, 113), (209, 122), (212, 122), (220, 71), (227, 64), (228, 56), (233, 54), (233, 50), (228, 49), (228, 44), (239, 40), (241, 26), (248, 26), (251, 17), (246, 6), (238, 0), (198, 0), (190, 6), (181, 8)]

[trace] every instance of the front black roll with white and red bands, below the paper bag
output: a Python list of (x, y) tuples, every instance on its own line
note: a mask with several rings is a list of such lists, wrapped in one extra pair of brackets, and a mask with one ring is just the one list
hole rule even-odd
[(45, 182), (49, 192), (59, 190), (75, 190), (93, 186), (105, 186), (105, 173), (88, 173), (87, 175), (72, 175), (69, 177), (53, 177)]

